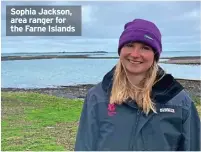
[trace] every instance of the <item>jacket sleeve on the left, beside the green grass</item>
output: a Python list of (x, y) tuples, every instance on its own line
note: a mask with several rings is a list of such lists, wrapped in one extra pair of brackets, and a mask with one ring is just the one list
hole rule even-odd
[(80, 116), (79, 127), (75, 141), (75, 151), (94, 151), (98, 138), (98, 120), (95, 111), (95, 101), (87, 94)]

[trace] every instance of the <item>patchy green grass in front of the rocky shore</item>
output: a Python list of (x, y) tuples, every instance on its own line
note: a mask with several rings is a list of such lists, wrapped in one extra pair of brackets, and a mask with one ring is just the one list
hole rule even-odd
[[(73, 151), (83, 102), (2, 92), (2, 151)], [(200, 99), (193, 98), (201, 115)]]

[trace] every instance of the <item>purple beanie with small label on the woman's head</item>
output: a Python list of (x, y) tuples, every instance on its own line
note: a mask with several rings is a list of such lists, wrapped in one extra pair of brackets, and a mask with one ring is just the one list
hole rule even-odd
[(119, 55), (121, 48), (130, 42), (143, 42), (151, 46), (155, 53), (155, 60), (159, 60), (162, 52), (161, 33), (154, 23), (143, 19), (135, 19), (126, 23), (119, 38)]

